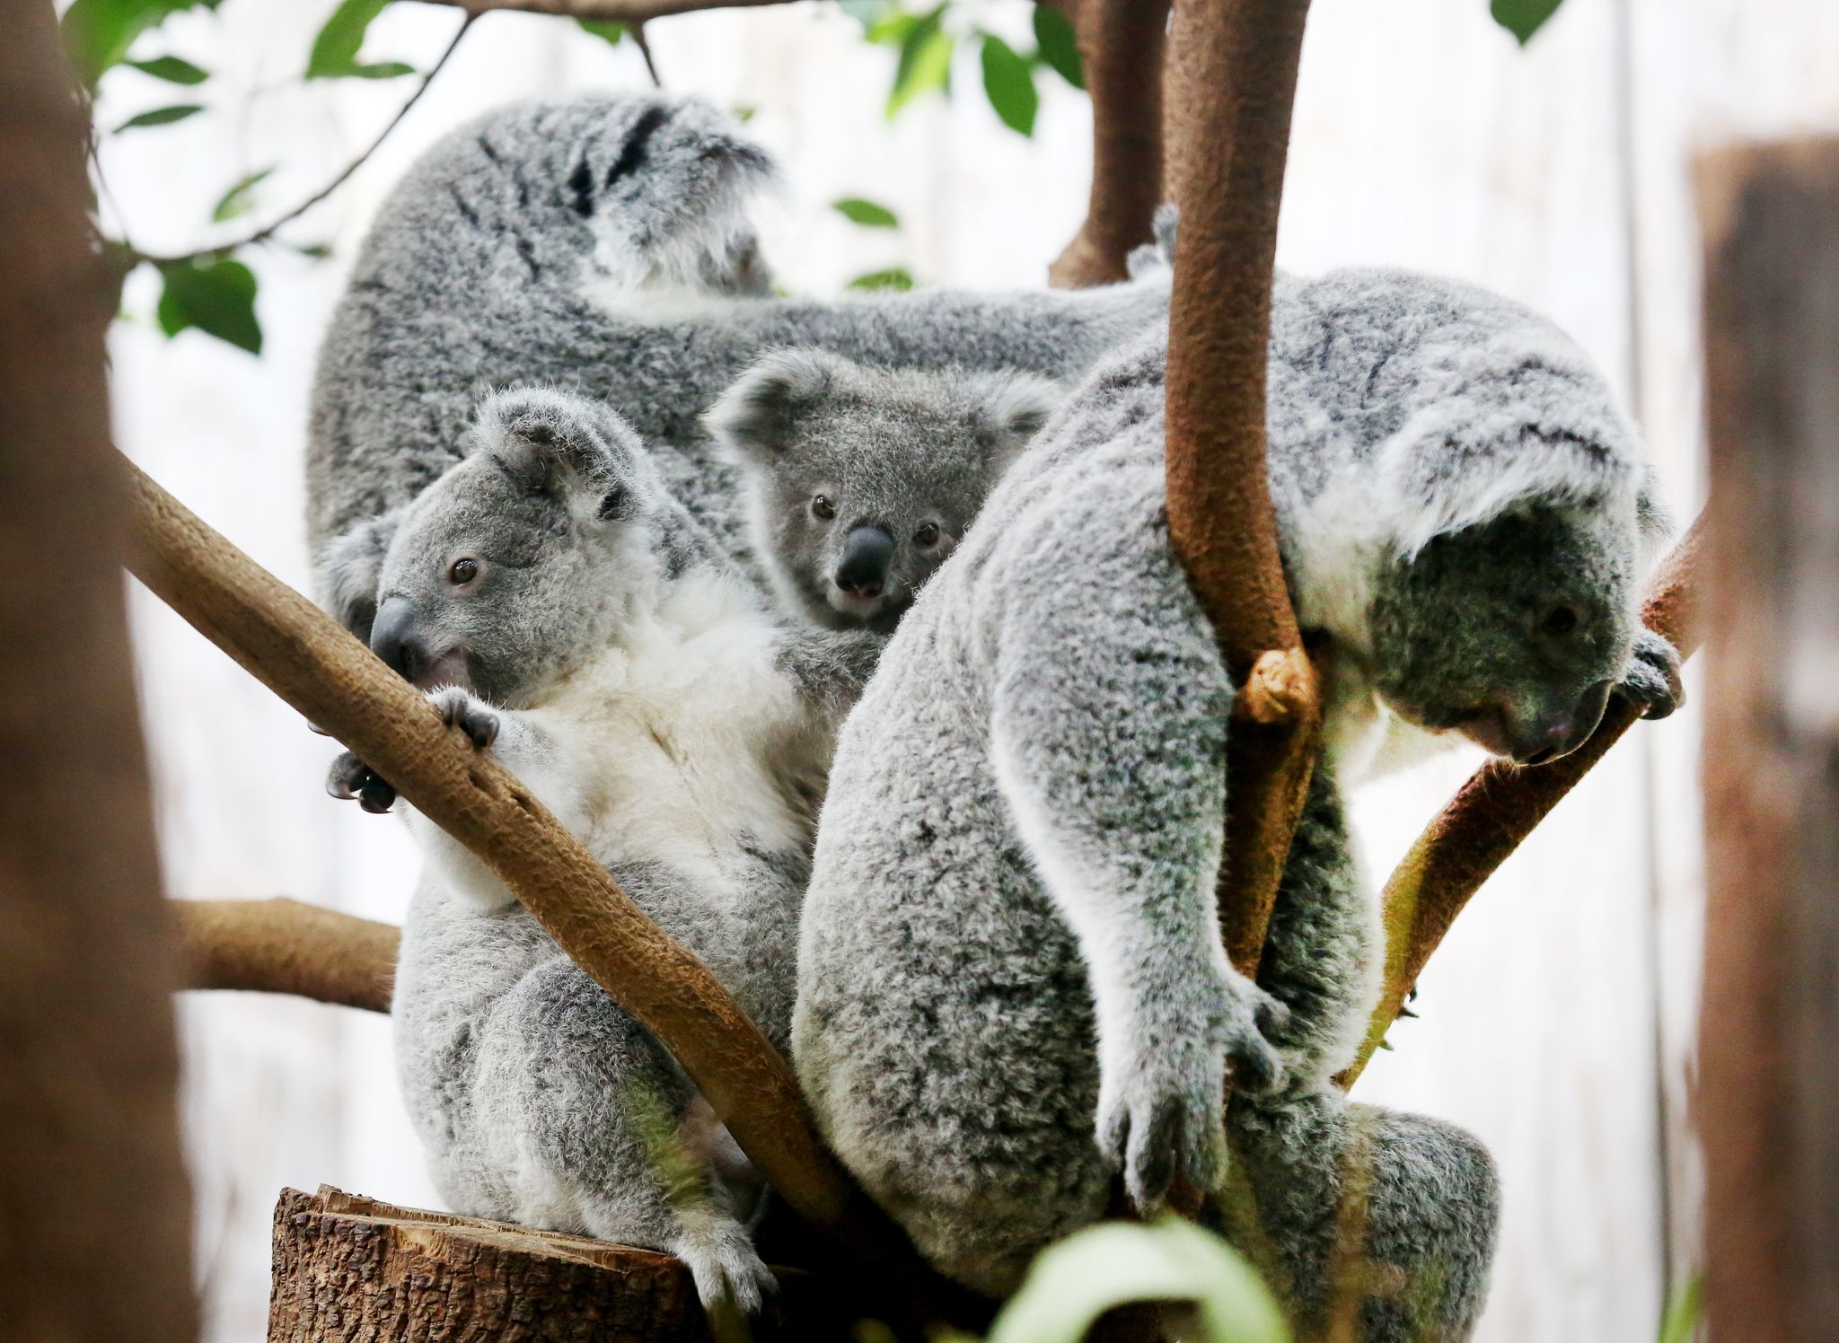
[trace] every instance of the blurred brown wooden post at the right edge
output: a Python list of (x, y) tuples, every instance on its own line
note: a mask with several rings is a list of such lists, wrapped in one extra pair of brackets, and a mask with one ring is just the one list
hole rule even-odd
[(1839, 140), (1712, 155), (1705, 1308), (1839, 1337)]

